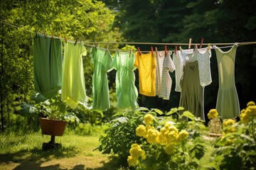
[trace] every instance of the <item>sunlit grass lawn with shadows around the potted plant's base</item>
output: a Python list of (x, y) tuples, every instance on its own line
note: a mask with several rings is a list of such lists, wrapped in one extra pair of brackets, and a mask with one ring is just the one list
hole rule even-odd
[(78, 136), (67, 133), (55, 137), (61, 148), (42, 151), (50, 136), (40, 132), (0, 135), (0, 169), (123, 169), (112, 155), (93, 151), (99, 146), (99, 134)]

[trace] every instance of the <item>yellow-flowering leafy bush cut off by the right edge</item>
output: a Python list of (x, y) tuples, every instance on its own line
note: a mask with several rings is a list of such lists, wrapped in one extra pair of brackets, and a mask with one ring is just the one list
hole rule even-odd
[[(251, 106), (247, 105), (245, 111), (250, 110), (250, 108)], [(226, 120), (223, 123), (223, 137), (215, 141), (216, 149), (212, 153), (212, 155), (223, 156), (219, 162), (220, 169), (255, 169), (256, 135), (253, 124), (256, 120), (256, 110), (250, 110), (250, 113), (252, 115), (246, 123), (243, 122), (244, 120), (238, 123), (235, 123), (235, 120)], [(242, 114), (240, 117), (243, 116)]]

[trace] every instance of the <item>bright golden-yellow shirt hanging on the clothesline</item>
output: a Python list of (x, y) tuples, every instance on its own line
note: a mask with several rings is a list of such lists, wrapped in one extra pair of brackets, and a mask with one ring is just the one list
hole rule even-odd
[(134, 66), (139, 69), (139, 94), (156, 96), (156, 60), (154, 53), (135, 53)]

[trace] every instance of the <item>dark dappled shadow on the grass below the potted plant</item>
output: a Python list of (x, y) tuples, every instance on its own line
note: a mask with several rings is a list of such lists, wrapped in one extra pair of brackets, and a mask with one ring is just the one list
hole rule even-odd
[(14, 153), (0, 154), (0, 163), (9, 164), (18, 163), (14, 169), (63, 169), (60, 164), (41, 166), (44, 162), (50, 161), (53, 157), (56, 159), (75, 157), (78, 150), (75, 147), (58, 147), (48, 151), (42, 151), (40, 148), (22, 149)]

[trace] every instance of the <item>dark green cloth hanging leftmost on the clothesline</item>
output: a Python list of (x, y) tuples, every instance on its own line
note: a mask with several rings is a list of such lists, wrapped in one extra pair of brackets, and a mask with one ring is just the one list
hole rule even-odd
[(51, 98), (61, 89), (62, 42), (59, 38), (36, 35), (33, 38), (35, 90)]

